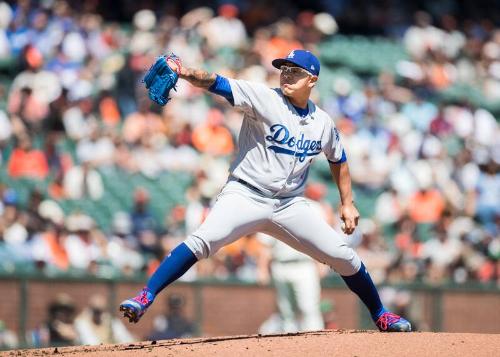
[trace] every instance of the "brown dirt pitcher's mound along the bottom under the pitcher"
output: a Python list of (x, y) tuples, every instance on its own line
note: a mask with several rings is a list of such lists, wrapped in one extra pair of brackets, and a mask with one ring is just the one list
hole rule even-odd
[(335, 330), (281, 335), (228, 336), (183, 340), (45, 348), (4, 356), (487, 356), (500, 351), (500, 336), (470, 333), (380, 333)]

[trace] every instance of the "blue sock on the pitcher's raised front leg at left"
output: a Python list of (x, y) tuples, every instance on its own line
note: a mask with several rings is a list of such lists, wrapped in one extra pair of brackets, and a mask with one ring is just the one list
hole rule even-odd
[(156, 296), (167, 285), (179, 279), (198, 259), (185, 243), (179, 244), (163, 259), (158, 269), (149, 278), (147, 288)]

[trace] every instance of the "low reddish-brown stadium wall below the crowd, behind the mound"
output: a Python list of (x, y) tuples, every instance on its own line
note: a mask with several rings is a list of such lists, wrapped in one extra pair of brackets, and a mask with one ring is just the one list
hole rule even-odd
[[(47, 306), (59, 293), (71, 295), (78, 311), (90, 296), (101, 293), (116, 311), (118, 302), (142, 288), (141, 283), (111, 281), (1, 279), (0, 294), (8, 297), (0, 305), (0, 320), (9, 329), (30, 331), (47, 317)], [(500, 290), (410, 288), (413, 315), (422, 330), (500, 333)], [(204, 336), (255, 334), (275, 311), (274, 289), (241, 283), (176, 283), (168, 292), (186, 298), (187, 317), (198, 323)], [(140, 324), (128, 325), (138, 338), (145, 338), (153, 318), (166, 310), (167, 293), (162, 293)], [(370, 328), (364, 308), (342, 285), (323, 288), (322, 297), (335, 305), (335, 319), (342, 329)], [(118, 313), (118, 312), (117, 312)]]

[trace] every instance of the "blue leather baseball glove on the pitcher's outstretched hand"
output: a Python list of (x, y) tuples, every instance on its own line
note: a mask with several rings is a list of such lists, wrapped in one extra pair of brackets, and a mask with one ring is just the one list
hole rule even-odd
[(170, 100), (168, 94), (171, 89), (176, 90), (175, 85), (179, 79), (179, 75), (170, 68), (167, 60), (172, 60), (179, 68), (181, 67), (181, 60), (173, 53), (161, 56), (158, 57), (142, 80), (148, 89), (149, 98), (161, 106)]

